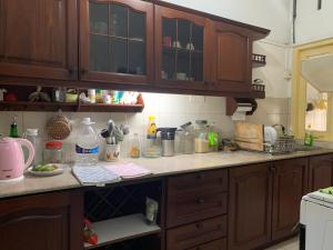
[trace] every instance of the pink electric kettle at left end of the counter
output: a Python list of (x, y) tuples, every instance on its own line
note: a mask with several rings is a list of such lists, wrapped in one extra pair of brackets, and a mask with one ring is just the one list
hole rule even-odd
[[(27, 162), (24, 162), (22, 146), (29, 150)], [(23, 172), (33, 158), (34, 149), (30, 141), (0, 137), (0, 182), (22, 180)]]

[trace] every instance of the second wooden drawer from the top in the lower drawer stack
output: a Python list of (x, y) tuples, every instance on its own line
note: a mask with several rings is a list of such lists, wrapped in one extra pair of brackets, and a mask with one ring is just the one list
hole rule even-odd
[(228, 209), (228, 193), (189, 194), (172, 199), (167, 207), (167, 226), (184, 223), (222, 216)]

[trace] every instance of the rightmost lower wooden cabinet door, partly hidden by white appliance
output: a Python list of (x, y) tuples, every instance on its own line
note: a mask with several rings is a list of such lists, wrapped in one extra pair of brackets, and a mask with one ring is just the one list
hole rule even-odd
[(310, 158), (309, 191), (316, 191), (333, 184), (333, 156)]

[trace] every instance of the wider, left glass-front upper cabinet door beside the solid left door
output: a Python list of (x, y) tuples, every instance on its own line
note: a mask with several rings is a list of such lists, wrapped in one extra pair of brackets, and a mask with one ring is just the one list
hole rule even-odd
[(153, 78), (153, 6), (81, 0), (81, 80), (144, 84)]

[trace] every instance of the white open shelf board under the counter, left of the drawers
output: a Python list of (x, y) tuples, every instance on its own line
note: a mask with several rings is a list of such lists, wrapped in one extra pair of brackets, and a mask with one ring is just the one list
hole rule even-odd
[(148, 224), (141, 213), (94, 222), (92, 228), (99, 237), (99, 243), (94, 246), (84, 243), (84, 249), (94, 249), (120, 241), (157, 234), (161, 231), (159, 226)]

